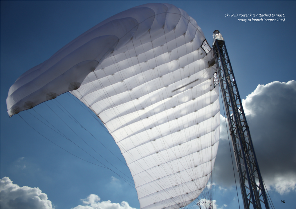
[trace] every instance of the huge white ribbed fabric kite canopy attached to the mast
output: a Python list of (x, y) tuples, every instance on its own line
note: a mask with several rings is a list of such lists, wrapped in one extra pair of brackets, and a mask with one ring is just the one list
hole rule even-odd
[(212, 172), (220, 106), (211, 48), (171, 4), (120, 12), (86, 31), (9, 89), (10, 116), (70, 91), (105, 124), (141, 208), (181, 208)]

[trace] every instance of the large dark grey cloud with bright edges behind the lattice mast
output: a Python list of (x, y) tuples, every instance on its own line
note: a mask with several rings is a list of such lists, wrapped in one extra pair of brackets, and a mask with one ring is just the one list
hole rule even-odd
[[(280, 194), (295, 191), (296, 81), (258, 85), (254, 92), (242, 100), (242, 104), (267, 188), (275, 189)], [(218, 184), (232, 186), (233, 170), (225, 118), (222, 115), (220, 134), (216, 179)]]

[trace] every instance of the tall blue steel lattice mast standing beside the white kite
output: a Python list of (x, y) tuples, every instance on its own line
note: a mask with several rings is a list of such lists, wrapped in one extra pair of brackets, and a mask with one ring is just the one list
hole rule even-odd
[[(242, 107), (224, 39), (218, 30), (213, 34), (213, 53), (222, 99), (231, 134), (244, 208), (269, 209), (258, 162), (253, 148), (249, 126)], [(213, 65), (212, 63), (209, 63)]]

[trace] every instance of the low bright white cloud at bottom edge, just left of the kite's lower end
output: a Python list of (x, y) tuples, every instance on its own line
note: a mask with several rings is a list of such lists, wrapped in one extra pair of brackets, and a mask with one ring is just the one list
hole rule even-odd
[(85, 205), (78, 205), (71, 209), (135, 209), (129, 206), (125, 201), (119, 203), (112, 203), (110, 200), (101, 201), (96, 194), (90, 194), (86, 199), (81, 200)]

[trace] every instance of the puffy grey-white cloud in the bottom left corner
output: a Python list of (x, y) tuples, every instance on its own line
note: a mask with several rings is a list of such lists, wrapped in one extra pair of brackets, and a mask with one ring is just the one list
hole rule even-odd
[(20, 187), (8, 177), (1, 179), (1, 209), (53, 209), (47, 195), (37, 188)]

